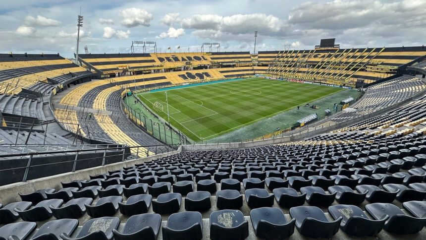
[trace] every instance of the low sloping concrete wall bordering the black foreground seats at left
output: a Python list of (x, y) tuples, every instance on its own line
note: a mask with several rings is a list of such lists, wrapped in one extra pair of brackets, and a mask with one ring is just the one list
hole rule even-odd
[(139, 158), (135, 160), (129, 160), (120, 163), (114, 163), (106, 166), (95, 167), (91, 169), (84, 169), (75, 171), (74, 173), (64, 173), (59, 175), (54, 175), (46, 178), (40, 178), (36, 180), (29, 180), (26, 182), (17, 182), (4, 186), (0, 186), (0, 203), (6, 205), (10, 202), (21, 201), (18, 193), (31, 193), (39, 189), (44, 188), (55, 188), (60, 189), (62, 185), (60, 182), (70, 182), (72, 180), (86, 179), (89, 180), (89, 175), (99, 175), (99, 174), (107, 174), (108, 171), (115, 171), (122, 169), (124, 167), (131, 167), (135, 164), (141, 164), (144, 162), (149, 162), (161, 157), (177, 154), (181, 152), (181, 148), (176, 151), (158, 154), (149, 156), (146, 158)]

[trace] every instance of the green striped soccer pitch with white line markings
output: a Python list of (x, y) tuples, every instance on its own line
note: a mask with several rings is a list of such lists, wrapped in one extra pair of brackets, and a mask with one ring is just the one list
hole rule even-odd
[[(340, 90), (263, 78), (176, 88), (167, 90), (170, 124), (194, 141), (206, 140)], [(165, 91), (138, 97), (167, 121)]]

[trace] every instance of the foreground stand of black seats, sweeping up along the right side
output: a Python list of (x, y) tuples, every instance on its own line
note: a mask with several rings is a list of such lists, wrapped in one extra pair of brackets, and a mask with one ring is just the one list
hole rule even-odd
[[(233, 239), (421, 239), (426, 223), (426, 128), (410, 124), (425, 117), (424, 106), (423, 94), (371, 119), (372, 124), (387, 124), (389, 116), (398, 115), (396, 123), (409, 118), (404, 125), (391, 127), (397, 130), (391, 134), (373, 133), (380, 129), (375, 125), (249, 149), (182, 151), (135, 160), (137, 164), (85, 179), (76, 174), (70, 182), (49, 181), (49, 188), (25, 190), (20, 196), (10, 192), (12, 200), (3, 200), (0, 209), (4, 216), (0, 236), (9, 237), (12, 228), (19, 229), (19, 236), (37, 236), (44, 233), (45, 224), (62, 219), (56, 209), (63, 209), (68, 218), (79, 207), (81, 214), (72, 218), (82, 227), (59, 231), (63, 239), (95, 238), (85, 228), (101, 223), (106, 236), (134, 238), (151, 227), (146, 234), (158, 239), (173, 239), (170, 234), (178, 230), (184, 239), (216, 239), (225, 234)], [(213, 183), (209, 188), (207, 181)], [(54, 197), (56, 205), (51, 202)], [(86, 208), (76, 203), (80, 200), (87, 201)], [(102, 203), (107, 204), (101, 209)], [(18, 205), (22, 209), (14, 212), (12, 206)], [(41, 220), (33, 212), (43, 206), (47, 215)], [(95, 212), (95, 208), (99, 209)], [(55, 217), (49, 211), (55, 211)], [(29, 224), (25, 219), (36, 225), (24, 228)], [(125, 232), (135, 219), (146, 223)], [(175, 219), (186, 219), (188, 225)], [(234, 220), (238, 222), (230, 224)], [(261, 220), (267, 225), (262, 227)], [(278, 227), (280, 231), (269, 229)]]

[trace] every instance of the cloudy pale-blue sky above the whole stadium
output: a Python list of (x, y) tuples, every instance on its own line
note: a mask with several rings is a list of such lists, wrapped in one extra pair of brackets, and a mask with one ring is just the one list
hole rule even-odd
[(2, 0), (0, 53), (129, 53), (132, 41), (158, 51), (312, 49), (321, 38), (341, 47), (426, 43), (426, 0)]

